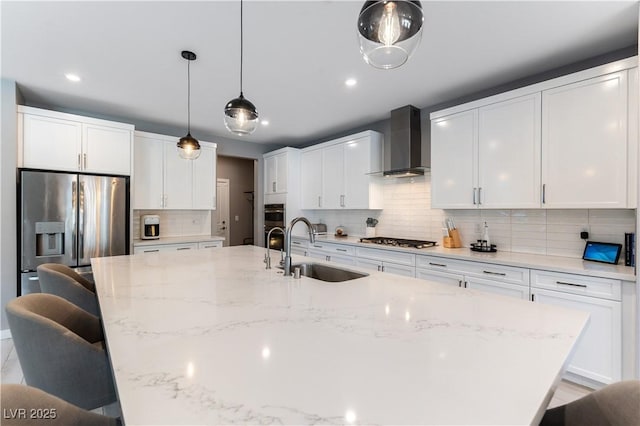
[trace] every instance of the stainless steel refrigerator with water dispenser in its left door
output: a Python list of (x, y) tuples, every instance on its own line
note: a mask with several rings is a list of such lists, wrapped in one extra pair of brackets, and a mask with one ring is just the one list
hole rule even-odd
[(40, 291), (43, 263), (83, 272), (129, 252), (128, 177), (18, 169), (18, 208), (18, 295)]

